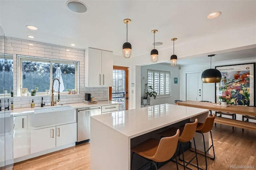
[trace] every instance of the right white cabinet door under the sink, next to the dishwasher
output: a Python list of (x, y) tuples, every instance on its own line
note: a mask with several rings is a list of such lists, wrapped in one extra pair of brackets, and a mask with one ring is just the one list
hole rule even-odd
[(76, 142), (76, 123), (56, 126), (56, 147)]

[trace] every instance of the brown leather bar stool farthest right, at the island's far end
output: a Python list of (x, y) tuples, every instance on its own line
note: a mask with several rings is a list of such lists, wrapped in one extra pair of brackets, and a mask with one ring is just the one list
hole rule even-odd
[[(202, 134), (203, 140), (204, 140), (204, 133), (207, 133), (207, 132), (210, 132), (211, 139), (212, 139), (212, 126), (214, 124), (214, 119), (215, 119), (215, 115), (212, 114), (212, 115), (210, 115), (210, 117), (206, 117), (204, 123), (198, 123), (197, 124), (196, 132)], [(214, 155), (213, 157), (206, 156), (206, 153), (210, 150), (210, 148), (213, 149), (213, 155)], [(192, 150), (190, 150), (190, 151), (192, 151)], [(200, 153), (198, 153), (198, 154), (200, 154)], [(205, 157), (205, 164), (206, 164), (206, 170), (207, 170), (207, 159), (206, 159), (206, 157), (208, 157), (208, 158), (210, 158), (212, 160), (215, 159), (213, 140), (212, 140), (212, 145), (207, 150), (205, 148), (205, 140), (204, 140), (204, 154), (200, 154), (200, 155), (203, 155)]]

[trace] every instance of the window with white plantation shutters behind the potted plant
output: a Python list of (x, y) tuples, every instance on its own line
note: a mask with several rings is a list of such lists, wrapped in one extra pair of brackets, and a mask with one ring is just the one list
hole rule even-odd
[(152, 86), (158, 97), (170, 96), (170, 76), (168, 71), (148, 70), (148, 85)]

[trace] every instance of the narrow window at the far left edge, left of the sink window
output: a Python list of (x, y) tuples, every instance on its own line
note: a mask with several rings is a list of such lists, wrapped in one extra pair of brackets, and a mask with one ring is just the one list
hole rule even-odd
[(0, 95), (10, 95), (10, 90), (13, 91), (13, 55), (0, 54), (0, 82)]

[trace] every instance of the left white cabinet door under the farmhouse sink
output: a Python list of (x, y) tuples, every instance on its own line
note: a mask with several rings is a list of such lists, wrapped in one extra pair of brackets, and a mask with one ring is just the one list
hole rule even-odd
[(30, 131), (30, 153), (40, 152), (56, 146), (56, 127)]

